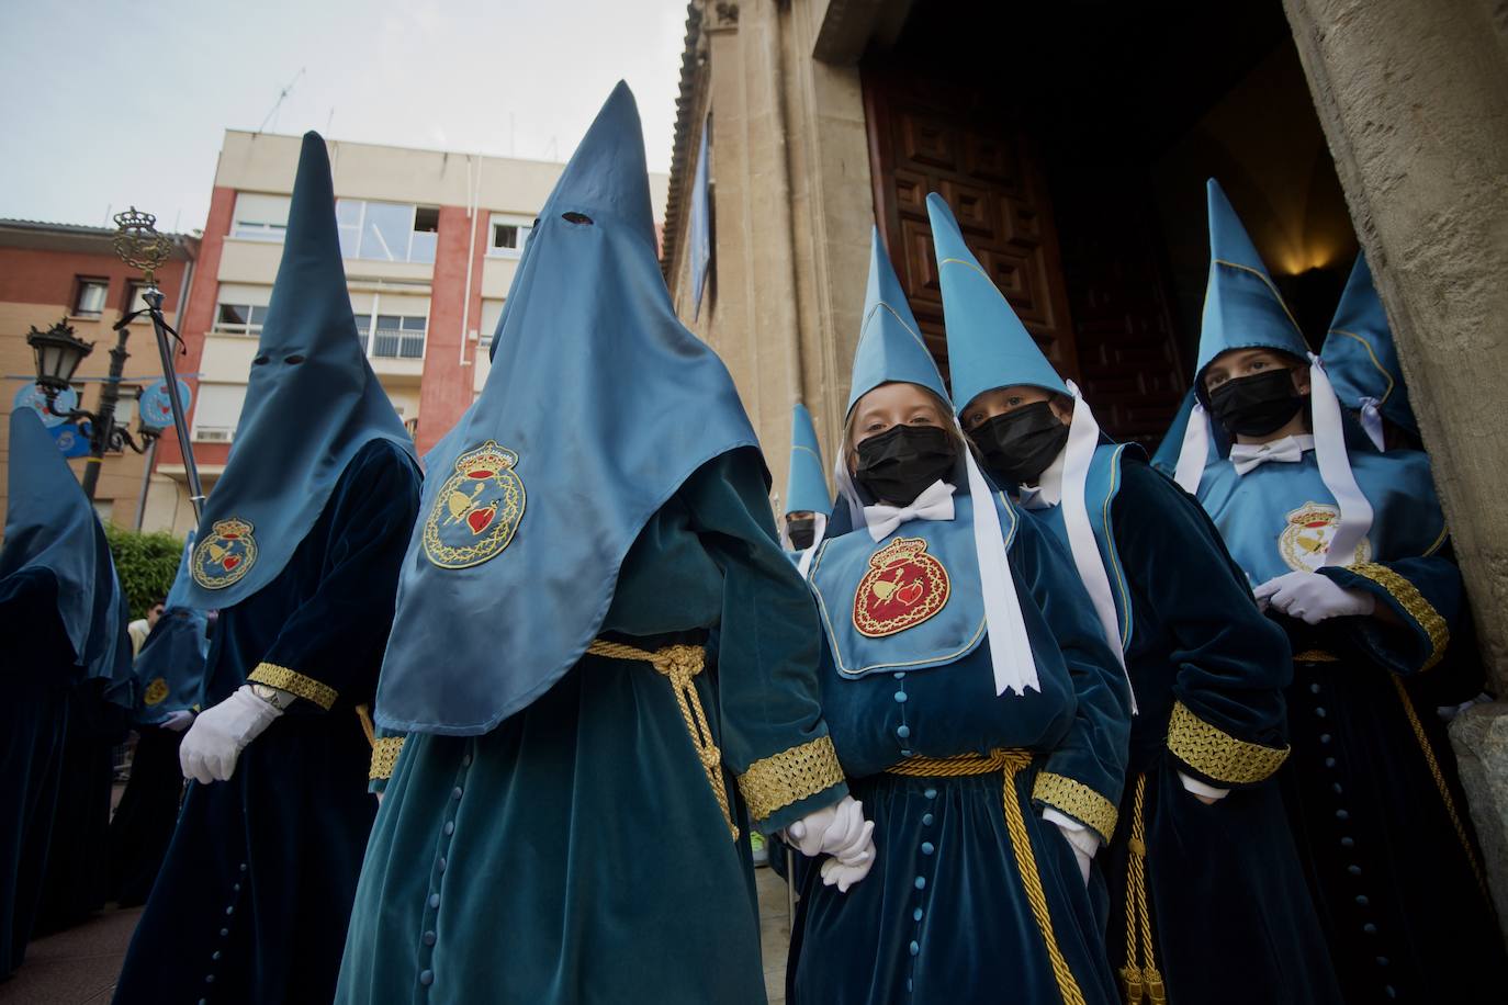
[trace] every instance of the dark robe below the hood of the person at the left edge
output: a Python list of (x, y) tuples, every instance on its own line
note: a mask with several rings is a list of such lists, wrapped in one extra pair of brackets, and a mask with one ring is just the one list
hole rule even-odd
[(81, 675), (57, 616), (57, 579), (27, 568), (0, 580), (0, 981), (26, 958), (62, 780), (68, 687)]

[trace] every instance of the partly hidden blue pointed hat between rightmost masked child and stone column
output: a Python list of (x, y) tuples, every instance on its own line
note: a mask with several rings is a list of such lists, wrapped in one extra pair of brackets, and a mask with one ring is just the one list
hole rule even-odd
[(1351, 267), (1320, 356), (1342, 405), (1360, 408), (1371, 398), (1387, 420), (1419, 435), (1419, 422), (1408, 404), (1402, 368), (1398, 366), (1393, 331), (1372, 283), (1366, 255), (1359, 255)]

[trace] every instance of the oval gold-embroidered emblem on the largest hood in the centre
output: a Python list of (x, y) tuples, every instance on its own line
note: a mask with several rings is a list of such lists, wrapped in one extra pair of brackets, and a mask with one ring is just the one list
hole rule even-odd
[(467, 568), (496, 557), (523, 518), (519, 455), (487, 440), (455, 458), (455, 473), (424, 521), (424, 554), (440, 568)]

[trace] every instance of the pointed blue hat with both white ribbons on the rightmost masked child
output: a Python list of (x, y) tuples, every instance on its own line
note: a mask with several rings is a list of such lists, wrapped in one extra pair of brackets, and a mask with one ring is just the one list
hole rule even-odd
[(1356, 484), (1345, 449), (1341, 404), (1320, 357), (1309, 353), (1298, 322), (1273, 285), (1252, 238), (1226, 199), (1220, 184), (1206, 184), (1209, 205), (1209, 283), (1199, 331), (1199, 365), (1194, 372), (1194, 405), (1184, 432), (1175, 479), (1197, 494), (1209, 461), (1209, 395), (1205, 369), (1221, 353), (1264, 348), (1309, 360), (1309, 402), (1313, 419), (1315, 457), (1324, 485), (1335, 496), (1341, 518), (1326, 554), (1326, 565), (1350, 565), (1356, 548), (1372, 526), (1372, 505)]

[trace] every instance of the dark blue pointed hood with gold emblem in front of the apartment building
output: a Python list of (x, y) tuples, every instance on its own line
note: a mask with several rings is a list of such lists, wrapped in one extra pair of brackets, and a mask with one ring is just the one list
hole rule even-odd
[(270, 583), (369, 440), (413, 441), (356, 334), (324, 140), (306, 133), (282, 264), (246, 383), (235, 446), (199, 517), (170, 607), (231, 607)]

